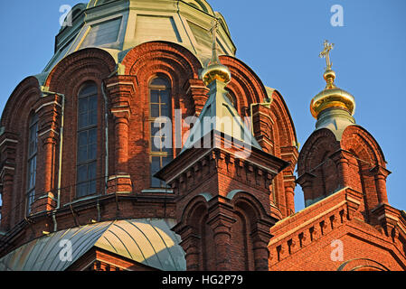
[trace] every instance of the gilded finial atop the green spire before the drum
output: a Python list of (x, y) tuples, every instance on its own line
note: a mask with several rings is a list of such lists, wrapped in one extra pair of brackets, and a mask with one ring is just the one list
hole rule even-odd
[(214, 18), (212, 21), (212, 59), (207, 64), (207, 67), (202, 72), (202, 79), (206, 86), (209, 86), (213, 80), (220, 80), (224, 83), (229, 83), (231, 80), (231, 71), (228, 67), (222, 65), (219, 60), (217, 51), (217, 29), (219, 28), (219, 19)]

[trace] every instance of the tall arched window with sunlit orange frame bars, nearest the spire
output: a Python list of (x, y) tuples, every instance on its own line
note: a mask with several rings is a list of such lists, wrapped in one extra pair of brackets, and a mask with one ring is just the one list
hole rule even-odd
[[(150, 173), (151, 188), (165, 188), (165, 182), (154, 178), (166, 164), (174, 159), (172, 129), (163, 134), (163, 128), (172, 122), (171, 89), (169, 81), (162, 77), (153, 79), (149, 84), (149, 123), (150, 123)], [(157, 119), (160, 125), (156, 127)], [(166, 119), (166, 121), (164, 120)], [(168, 135), (168, 133), (170, 135)], [(170, 137), (170, 139), (168, 138)], [(169, 141), (169, 145), (168, 145)]]

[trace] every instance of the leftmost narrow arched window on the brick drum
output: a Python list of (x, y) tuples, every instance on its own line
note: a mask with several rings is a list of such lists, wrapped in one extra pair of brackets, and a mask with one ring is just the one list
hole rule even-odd
[(38, 153), (38, 115), (30, 118), (28, 132), (28, 163), (27, 163), (27, 215), (31, 214), (35, 200), (35, 178), (37, 172)]

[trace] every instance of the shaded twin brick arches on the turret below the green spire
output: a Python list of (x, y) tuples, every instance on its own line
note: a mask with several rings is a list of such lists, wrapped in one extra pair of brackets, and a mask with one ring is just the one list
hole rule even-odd
[[(207, 270), (217, 266), (216, 255), (223, 254), (224, 248), (218, 247), (214, 238), (227, 234), (231, 240), (227, 247), (233, 269), (268, 270), (269, 228), (276, 220), (249, 192), (231, 191), (226, 197), (227, 210), (222, 205), (218, 207), (217, 200), (209, 193), (199, 194), (177, 216), (179, 222), (174, 229), (184, 240), (188, 269)], [(224, 215), (225, 219), (212, 222), (216, 210), (222, 210), (228, 217)]]

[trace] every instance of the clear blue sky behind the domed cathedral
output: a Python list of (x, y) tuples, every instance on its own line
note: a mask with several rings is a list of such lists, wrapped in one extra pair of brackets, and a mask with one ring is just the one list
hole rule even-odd
[[(326, 62), (318, 58), (325, 39), (336, 85), (356, 100), (355, 119), (382, 147), (392, 171), (392, 206), (406, 209), (406, 1), (404, 0), (208, 0), (225, 17), (237, 57), (285, 98), (300, 144), (316, 120), (309, 104), (326, 85)], [(53, 54), (61, 5), (80, 1), (0, 1), (0, 111), (18, 83), (42, 71)], [(333, 27), (332, 5), (344, 8), (344, 26)], [(304, 207), (297, 187), (297, 210)]]

